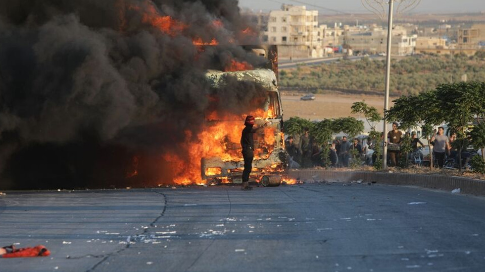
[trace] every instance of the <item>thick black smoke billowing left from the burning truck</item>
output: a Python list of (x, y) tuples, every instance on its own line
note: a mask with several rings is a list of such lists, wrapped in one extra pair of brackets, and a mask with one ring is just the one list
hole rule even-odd
[[(170, 172), (160, 154), (178, 152), (208, 109), (241, 113), (263, 95), (248, 84), (221, 93), (203, 80), (231, 59), (260, 61), (235, 45), (257, 42), (241, 34), (251, 25), (237, 5), (0, 0), (0, 187), (118, 186), (140, 155), (138, 181)], [(161, 16), (184, 27), (161, 31), (152, 22)]]

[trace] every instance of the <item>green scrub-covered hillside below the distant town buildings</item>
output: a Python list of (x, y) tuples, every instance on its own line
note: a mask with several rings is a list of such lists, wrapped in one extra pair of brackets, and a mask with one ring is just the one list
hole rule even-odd
[[(417, 94), (443, 83), (457, 82), (463, 74), (468, 81), (485, 81), (485, 53), (475, 56), (416, 55), (394, 58), (391, 68), (391, 95)], [(341, 91), (376, 94), (384, 90), (385, 60), (363, 58), (336, 63), (299, 66), (280, 72), (280, 86), (313, 93)]]

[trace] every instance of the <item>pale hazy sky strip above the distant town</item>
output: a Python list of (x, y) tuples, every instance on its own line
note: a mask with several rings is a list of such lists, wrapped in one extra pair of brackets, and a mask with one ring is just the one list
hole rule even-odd
[[(373, 1), (382, 2), (383, 0)], [(305, 2), (342, 12), (367, 12), (367, 10), (362, 6), (361, 0), (299, 0), (298, 2)], [(304, 4), (298, 2), (290, 0), (239, 0), (239, 6), (243, 8), (250, 8), (254, 11), (277, 10), (280, 9), (282, 3), (305, 6)], [(389, 0), (386, 2), (389, 2)], [(331, 13), (331, 11), (325, 11), (324, 9), (311, 7), (309, 5), (306, 6), (308, 9), (319, 10), (320, 13)], [(414, 11), (426, 13), (485, 12), (485, 0), (421, 0), (421, 3)], [(485, 18), (485, 14), (483, 14), (483, 17)]]

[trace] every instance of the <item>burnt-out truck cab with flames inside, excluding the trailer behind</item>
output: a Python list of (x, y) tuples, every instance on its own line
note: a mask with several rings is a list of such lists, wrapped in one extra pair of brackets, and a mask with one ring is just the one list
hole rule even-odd
[[(278, 177), (281, 179), (281, 174), (287, 166), (287, 153), (284, 150), (283, 113), (277, 77), (272, 70), (210, 71), (207, 73), (208, 80), (215, 87), (224, 85), (227, 77), (235, 77), (238, 81), (257, 82), (267, 92), (263, 108), (253, 113), (256, 116), (257, 125), (266, 121), (268, 126), (255, 135), (255, 160), (252, 175), (263, 185), (279, 184)], [(237, 117), (239, 118), (224, 119), (217, 116), (208, 116), (209, 126), (214, 128), (225, 127), (224, 131), (228, 133), (225, 135), (223, 135), (224, 133), (215, 134), (215, 137), (221, 140), (222, 153), (201, 159), (203, 180), (208, 180), (210, 183), (241, 182), (244, 161), (241, 157), (239, 139), (243, 130), (242, 120), (244, 118), (243, 116)], [(275, 179), (276, 181), (274, 181)]]

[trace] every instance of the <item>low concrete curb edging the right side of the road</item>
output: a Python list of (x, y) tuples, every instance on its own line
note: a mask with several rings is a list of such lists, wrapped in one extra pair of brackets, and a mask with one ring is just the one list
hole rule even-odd
[(401, 174), (401, 173), (382, 173), (364, 171), (331, 171), (331, 170), (290, 170), (288, 176), (296, 179), (306, 180), (307, 182), (340, 181), (349, 182), (362, 180), (362, 182), (372, 182), (391, 185), (414, 185), (424, 188), (433, 188), (451, 191), (460, 188), (462, 193), (485, 195), (485, 181), (442, 175), (420, 175), (420, 174)]

